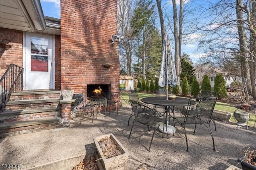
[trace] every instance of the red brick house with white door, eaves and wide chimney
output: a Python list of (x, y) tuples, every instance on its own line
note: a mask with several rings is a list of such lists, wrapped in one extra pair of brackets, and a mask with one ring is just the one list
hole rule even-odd
[[(44, 16), (39, 0), (1, 1), (0, 42), (12, 47), (0, 45), (0, 76), (13, 63), (24, 68), (24, 92), (74, 90), (88, 96), (98, 86), (118, 92), (118, 48), (111, 40), (117, 35), (117, 1), (60, 0), (60, 9), (59, 20)], [(62, 115), (70, 114), (67, 108), (62, 104)]]

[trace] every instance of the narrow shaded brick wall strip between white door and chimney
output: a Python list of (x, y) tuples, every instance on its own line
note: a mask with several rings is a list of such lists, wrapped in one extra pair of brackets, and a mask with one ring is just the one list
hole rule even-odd
[(55, 35), (55, 90), (61, 89), (60, 83), (60, 35)]

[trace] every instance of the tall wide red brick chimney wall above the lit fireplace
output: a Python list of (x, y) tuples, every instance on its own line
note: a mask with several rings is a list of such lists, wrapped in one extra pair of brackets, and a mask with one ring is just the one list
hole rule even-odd
[[(61, 0), (61, 89), (87, 93), (87, 84), (119, 91), (116, 0)], [(103, 64), (110, 64), (104, 68)]]

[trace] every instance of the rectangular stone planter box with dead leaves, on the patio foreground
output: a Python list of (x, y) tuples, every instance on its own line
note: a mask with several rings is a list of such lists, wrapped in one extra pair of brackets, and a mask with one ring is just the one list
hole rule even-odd
[[(99, 145), (98, 141), (100, 141), (100, 139), (104, 139), (106, 137), (110, 137), (110, 139), (114, 143), (116, 143), (117, 147), (121, 147), (122, 154), (120, 154), (118, 156), (114, 156), (112, 158), (108, 158), (108, 159), (105, 158), (102, 150), (100, 149), (100, 145)], [(98, 156), (100, 158), (100, 160), (98, 160), (98, 161), (101, 161), (105, 170), (123, 170), (124, 169), (124, 164), (127, 162), (129, 154), (128, 154), (127, 150), (123, 147), (123, 145), (116, 139), (116, 137), (114, 137), (114, 135), (112, 133), (107, 134), (107, 135), (102, 135), (99, 137), (95, 137), (95, 138), (93, 138), (93, 140), (96, 145)], [(97, 163), (98, 163), (98, 161), (97, 161)]]

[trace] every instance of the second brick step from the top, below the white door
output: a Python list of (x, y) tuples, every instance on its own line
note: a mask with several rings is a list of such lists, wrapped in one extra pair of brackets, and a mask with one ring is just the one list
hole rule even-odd
[(40, 99), (40, 100), (19, 100), (10, 101), (6, 104), (6, 110), (24, 110), (26, 108), (36, 109), (42, 107), (57, 106), (60, 99)]

